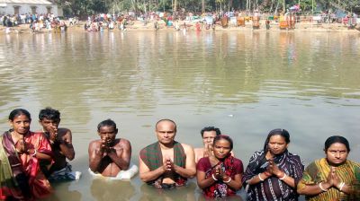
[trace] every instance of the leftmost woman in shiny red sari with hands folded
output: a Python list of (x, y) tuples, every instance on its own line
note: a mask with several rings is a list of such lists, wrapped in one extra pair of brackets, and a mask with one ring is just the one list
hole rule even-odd
[(40, 160), (51, 161), (49, 141), (42, 133), (30, 131), (31, 115), (14, 109), (12, 127), (0, 136), (0, 199), (35, 200), (51, 192), (49, 181), (40, 171)]

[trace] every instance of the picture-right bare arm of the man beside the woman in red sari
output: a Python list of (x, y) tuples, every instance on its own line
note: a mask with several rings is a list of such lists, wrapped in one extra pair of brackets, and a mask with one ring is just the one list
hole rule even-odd
[(60, 128), (58, 135), (58, 143), (61, 153), (67, 157), (68, 160), (72, 161), (75, 157), (74, 146), (72, 144), (72, 134), (67, 128)]

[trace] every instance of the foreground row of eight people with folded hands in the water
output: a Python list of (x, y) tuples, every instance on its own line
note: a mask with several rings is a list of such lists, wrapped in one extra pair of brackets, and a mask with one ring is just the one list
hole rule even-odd
[[(79, 179), (67, 162), (75, 158), (71, 130), (58, 127), (57, 109), (41, 109), (40, 131), (32, 132), (31, 114), (14, 109), (10, 129), (0, 135), (0, 199), (36, 200), (53, 192), (51, 182)], [(112, 119), (97, 126), (99, 139), (88, 147), (89, 173), (111, 179), (139, 178), (154, 188), (186, 186), (196, 178), (204, 197), (238, 197), (245, 188), (247, 200), (360, 200), (360, 165), (347, 159), (350, 144), (340, 135), (330, 136), (324, 145), (325, 157), (306, 168), (299, 155), (290, 153), (290, 134), (274, 129), (264, 147), (255, 152), (244, 170), (232, 152), (234, 142), (219, 128), (204, 127), (203, 147), (175, 141), (176, 124), (160, 119), (155, 125), (157, 141), (139, 152), (139, 169), (132, 164), (131, 144), (117, 137)]]

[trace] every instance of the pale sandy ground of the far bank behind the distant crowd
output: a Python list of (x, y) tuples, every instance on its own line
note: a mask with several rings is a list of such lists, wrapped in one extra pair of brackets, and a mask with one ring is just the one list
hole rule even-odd
[[(180, 24), (184, 24), (184, 22), (179, 22)], [(194, 23), (185, 22), (188, 31), (195, 31)], [(69, 26), (67, 28), (68, 32), (74, 31), (85, 31), (84, 30), (85, 22), (79, 22), (74, 26)], [(166, 27), (165, 22), (159, 22), (160, 29), (158, 31), (175, 31), (174, 27)], [(104, 30), (108, 31), (108, 30)], [(117, 27), (112, 31), (120, 31)], [(130, 22), (126, 26), (126, 31), (154, 31), (154, 22), (148, 22), (144, 24), (144, 22), (134, 21)], [(266, 24), (265, 22), (260, 22), (259, 29), (253, 29), (252, 23), (247, 22), (245, 26), (238, 27), (238, 26), (229, 26), (227, 28), (221, 27), (219, 24), (216, 25), (215, 30), (205, 29), (205, 25), (202, 25), (202, 31), (266, 31)], [(359, 32), (360, 33), (360, 26), (357, 25), (356, 29), (348, 29), (346, 25), (341, 23), (311, 23), (311, 22), (303, 22), (295, 24), (295, 29), (293, 30), (281, 30), (279, 28), (278, 22), (271, 22), (270, 30), (269, 31), (315, 31), (315, 32), (329, 32), (329, 31), (345, 31), (345, 32)], [(43, 29), (42, 32), (47, 32), (46, 29)], [(26, 34), (32, 33), (29, 24), (21, 24), (16, 27), (10, 28), (10, 33), (6, 33), (6, 28), (4, 26), (0, 26), (0, 35), (4, 34)]]

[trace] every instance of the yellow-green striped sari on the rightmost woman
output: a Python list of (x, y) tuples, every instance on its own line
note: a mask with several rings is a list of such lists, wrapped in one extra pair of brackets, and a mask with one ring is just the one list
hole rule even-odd
[[(311, 201), (343, 201), (343, 200), (360, 200), (360, 166), (356, 162), (347, 160), (344, 164), (337, 167), (337, 174), (341, 181), (345, 182), (355, 192), (352, 195), (347, 195), (338, 190), (338, 188), (329, 188), (328, 191), (322, 192), (313, 197), (306, 197)], [(330, 172), (330, 165), (326, 158), (322, 158), (306, 167), (302, 175), (302, 180), (299, 182), (298, 188), (305, 188), (306, 185), (318, 184), (327, 180)]]

